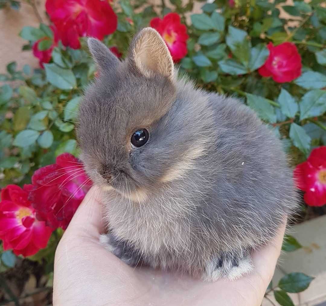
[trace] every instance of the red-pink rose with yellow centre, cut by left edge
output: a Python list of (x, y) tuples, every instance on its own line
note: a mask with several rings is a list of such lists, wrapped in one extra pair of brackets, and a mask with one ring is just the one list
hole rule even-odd
[(16, 255), (30, 256), (45, 248), (52, 229), (35, 218), (35, 209), (27, 199), (28, 193), (16, 185), (1, 190), (0, 239), (4, 250)]

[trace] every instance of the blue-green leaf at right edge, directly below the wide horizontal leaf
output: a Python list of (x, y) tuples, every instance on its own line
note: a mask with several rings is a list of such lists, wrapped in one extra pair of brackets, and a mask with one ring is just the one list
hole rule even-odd
[(315, 89), (306, 92), (299, 105), (300, 120), (322, 115), (326, 112), (326, 91)]

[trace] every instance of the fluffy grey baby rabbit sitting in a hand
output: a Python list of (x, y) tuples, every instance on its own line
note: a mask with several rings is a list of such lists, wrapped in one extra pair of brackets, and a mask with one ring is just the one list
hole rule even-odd
[(177, 78), (152, 28), (119, 61), (89, 38), (99, 77), (79, 110), (81, 159), (104, 191), (101, 236), (131, 266), (208, 281), (252, 270), (296, 205), (280, 141), (234, 98)]

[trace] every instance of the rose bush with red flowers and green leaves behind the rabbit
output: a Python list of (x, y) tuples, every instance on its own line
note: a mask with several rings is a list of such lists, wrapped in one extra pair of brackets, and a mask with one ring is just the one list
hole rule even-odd
[[(5, 0), (0, 6), (3, 3), (19, 7), (16, 1)], [(180, 74), (206, 90), (238, 96), (251, 107), (281, 139), (296, 166), (304, 201), (325, 204), (325, 7), (319, 0), (295, 1), (292, 6), (282, 0), (256, 0), (252, 6), (215, 0), (193, 12), (193, 4), (47, 0), (47, 25), (22, 29), (23, 49), (32, 50), (44, 69), (25, 65), (17, 70), (12, 62), (0, 75), (0, 187), (5, 190), (0, 238), (6, 256), (9, 249), (24, 256), (36, 252), (45, 246), (50, 229), (50, 241), (57, 242), (91, 186), (77, 159), (75, 136), (82, 92), (98, 74), (85, 36), (103, 40), (124, 58), (131, 37), (145, 26), (162, 36)], [(287, 19), (281, 17), (282, 10)], [(11, 83), (15, 80), (20, 82)], [(24, 200), (8, 198), (8, 188), (19, 190)], [(47, 235), (36, 241), (41, 226)], [(29, 258), (51, 266), (55, 245), (49, 243)], [(299, 247), (293, 237), (284, 244), (288, 251)], [(309, 285), (310, 278), (294, 274), (290, 277), (296, 283)], [(279, 303), (291, 305), (280, 284), (270, 292)]]

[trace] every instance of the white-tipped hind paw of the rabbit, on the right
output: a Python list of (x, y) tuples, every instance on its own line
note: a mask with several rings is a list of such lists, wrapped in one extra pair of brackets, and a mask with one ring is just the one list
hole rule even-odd
[(253, 269), (249, 252), (243, 256), (230, 254), (213, 258), (205, 268), (202, 279), (208, 282), (215, 282), (220, 278), (235, 280)]

